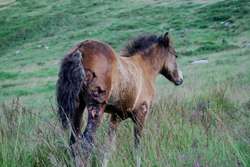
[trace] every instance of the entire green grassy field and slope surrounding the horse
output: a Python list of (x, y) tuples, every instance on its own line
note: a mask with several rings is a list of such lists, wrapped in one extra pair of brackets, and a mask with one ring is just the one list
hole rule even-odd
[[(1, 0), (0, 15), (1, 166), (73, 164), (55, 89), (74, 44), (101, 40), (119, 55), (132, 36), (169, 29), (185, 79), (156, 79), (142, 166), (250, 165), (250, 1)], [(102, 163), (107, 126), (105, 115), (92, 166)], [(133, 141), (126, 120), (109, 166), (134, 166)]]

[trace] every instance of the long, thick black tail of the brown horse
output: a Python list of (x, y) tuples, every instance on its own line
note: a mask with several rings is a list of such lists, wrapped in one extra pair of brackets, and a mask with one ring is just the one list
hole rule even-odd
[(65, 56), (62, 61), (57, 81), (57, 102), (59, 120), (64, 128), (68, 127), (76, 106), (79, 103), (79, 94), (85, 79), (82, 64), (82, 54), (76, 49)]

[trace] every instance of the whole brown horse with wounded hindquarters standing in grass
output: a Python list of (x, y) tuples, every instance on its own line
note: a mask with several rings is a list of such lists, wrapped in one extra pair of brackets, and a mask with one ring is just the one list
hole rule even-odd
[[(177, 65), (177, 53), (164, 35), (144, 34), (129, 43), (121, 57), (106, 43), (85, 40), (73, 46), (65, 55), (57, 81), (59, 119), (63, 127), (71, 125), (70, 145), (81, 141), (85, 157), (93, 149), (93, 139), (103, 113), (110, 114), (108, 141), (115, 146), (119, 123), (131, 118), (134, 123), (134, 143), (137, 165), (140, 165), (141, 133), (155, 96), (154, 81), (164, 75), (175, 85), (183, 82)], [(88, 109), (88, 122), (83, 135), (81, 120)], [(111, 149), (104, 155), (107, 165)]]

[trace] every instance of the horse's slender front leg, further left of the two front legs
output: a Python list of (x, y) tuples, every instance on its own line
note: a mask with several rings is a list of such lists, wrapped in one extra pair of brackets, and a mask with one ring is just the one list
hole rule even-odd
[(103, 167), (106, 167), (108, 165), (109, 157), (116, 148), (116, 131), (118, 129), (119, 123), (122, 120), (116, 114), (111, 114), (109, 121), (110, 123), (108, 129), (108, 137), (104, 148), (104, 160), (102, 164)]

